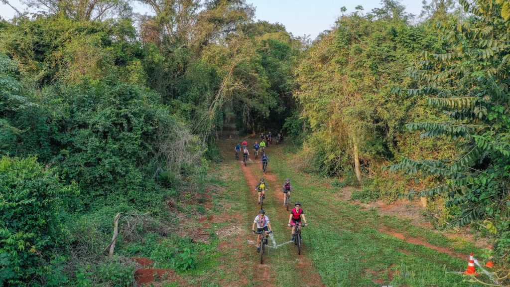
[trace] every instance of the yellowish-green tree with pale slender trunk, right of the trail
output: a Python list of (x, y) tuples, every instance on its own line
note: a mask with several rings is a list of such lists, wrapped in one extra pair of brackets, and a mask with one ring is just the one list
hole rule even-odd
[(406, 118), (422, 113), (421, 106), (416, 94), (400, 97), (391, 89), (411, 84), (401, 71), (423, 45), (430, 45), (426, 32), (409, 26), (405, 15), (353, 13), (305, 52), (296, 68), (295, 97), (313, 129), (305, 143), (312, 154), (305, 157), (319, 163), (314, 170), (352, 171), (362, 181), (408, 143), (400, 130)]

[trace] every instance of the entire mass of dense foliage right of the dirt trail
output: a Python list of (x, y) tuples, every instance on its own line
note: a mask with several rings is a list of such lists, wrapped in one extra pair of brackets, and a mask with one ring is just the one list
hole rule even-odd
[[(507, 260), (509, 7), (432, 1), (411, 25), (388, 0), (341, 16), (296, 68), (294, 96), (310, 127), (304, 168), (344, 184), (355, 175), (362, 188), (353, 199), (444, 202), (436, 217), (448, 226), (478, 223)], [(296, 125), (289, 117), (286, 126)]]

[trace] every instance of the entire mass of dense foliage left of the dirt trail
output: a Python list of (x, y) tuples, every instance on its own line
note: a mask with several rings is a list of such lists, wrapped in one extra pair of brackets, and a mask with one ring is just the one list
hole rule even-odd
[[(128, 2), (59, 3), (0, 25), (0, 284), (127, 286), (140, 242), (194, 268), (166, 202), (203, 192), (225, 109), (282, 127), (300, 42), (242, 0), (147, 2), (139, 27)], [(110, 258), (116, 213), (140, 223)]]

